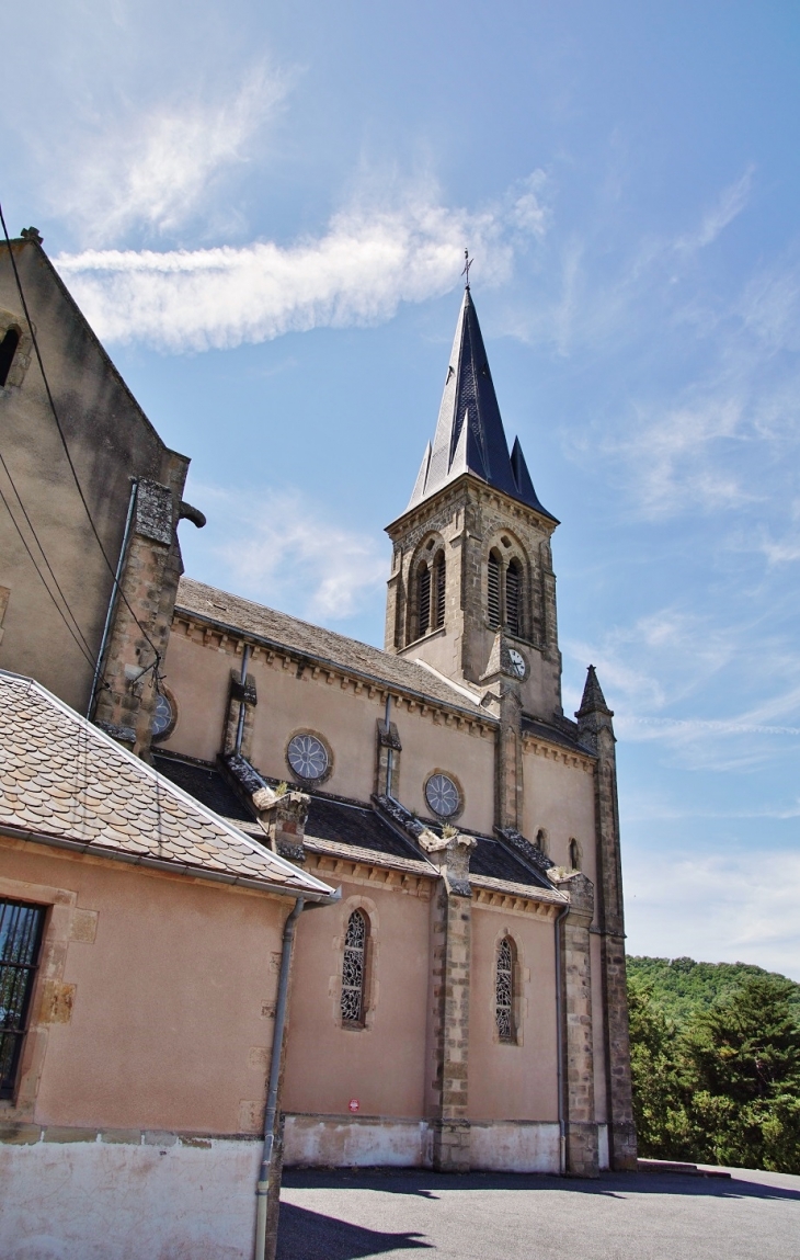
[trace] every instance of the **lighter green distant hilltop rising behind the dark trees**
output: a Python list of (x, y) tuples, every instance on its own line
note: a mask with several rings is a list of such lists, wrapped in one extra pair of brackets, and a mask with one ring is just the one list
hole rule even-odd
[[(653, 987), (653, 1002), (668, 1019), (684, 1024), (693, 1011), (708, 1011), (714, 1002), (738, 989), (748, 975), (769, 975), (774, 980), (785, 976), (765, 971), (751, 963), (695, 963), (693, 958), (629, 956), (629, 978)], [(792, 1014), (800, 1021), (800, 984), (790, 995)]]

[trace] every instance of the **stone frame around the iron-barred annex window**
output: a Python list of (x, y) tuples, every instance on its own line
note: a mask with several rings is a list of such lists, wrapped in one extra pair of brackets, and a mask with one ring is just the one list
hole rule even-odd
[[(13, 843), (16, 847), (28, 842)], [(49, 1027), (69, 1023), (76, 1000), (77, 987), (64, 984), (67, 950), (74, 940), (93, 942), (97, 914), (78, 908), (78, 893), (73, 888), (55, 888), (5, 876), (0, 877), (0, 896), (39, 905), (47, 911), (16, 1087), (13, 1099), (0, 1099), (0, 1124), (30, 1124), (44, 1071)]]

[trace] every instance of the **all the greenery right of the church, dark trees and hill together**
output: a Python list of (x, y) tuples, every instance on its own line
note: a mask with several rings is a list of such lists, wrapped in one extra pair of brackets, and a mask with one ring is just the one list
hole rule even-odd
[(627, 963), (639, 1154), (800, 1173), (800, 985), (745, 963)]

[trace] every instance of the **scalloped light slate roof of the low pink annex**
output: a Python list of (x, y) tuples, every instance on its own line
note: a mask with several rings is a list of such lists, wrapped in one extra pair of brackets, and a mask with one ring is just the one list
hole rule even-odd
[(39, 683), (0, 670), (4, 829), (188, 876), (334, 897), (328, 885), (256, 844)]

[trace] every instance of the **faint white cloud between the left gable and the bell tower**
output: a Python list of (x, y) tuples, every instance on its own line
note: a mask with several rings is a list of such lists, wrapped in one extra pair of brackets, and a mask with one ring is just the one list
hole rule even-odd
[(244, 495), (194, 486), (212, 503), (212, 552), (224, 582), (270, 607), (315, 622), (344, 620), (374, 597), (388, 575), (384, 549), (372, 536), (330, 520), (296, 489)]

